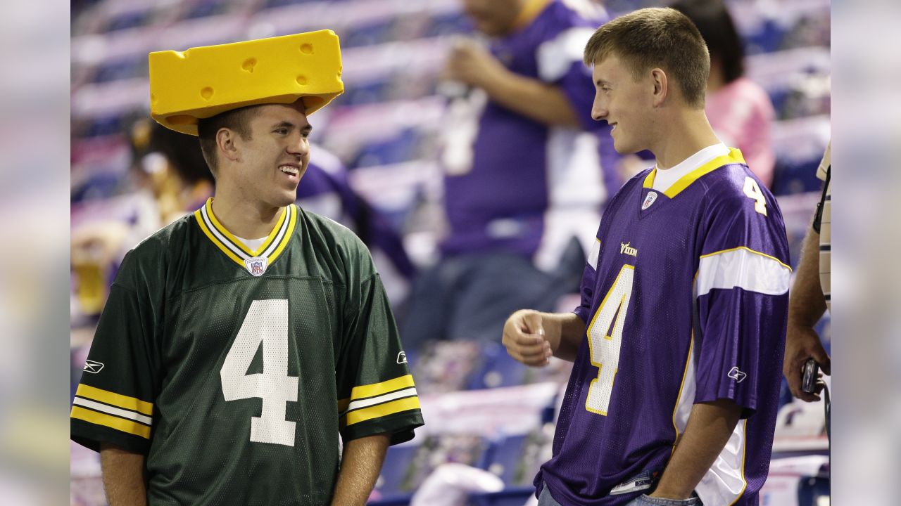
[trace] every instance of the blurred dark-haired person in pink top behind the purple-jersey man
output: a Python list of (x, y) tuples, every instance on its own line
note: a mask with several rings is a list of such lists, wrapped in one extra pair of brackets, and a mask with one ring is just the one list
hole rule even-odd
[(722, 0), (679, 0), (672, 8), (695, 23), (710, 50), (705, 113), (726, 146), (742, 150), (748, 167), (767, 187), (773, 184), (770, 125), (776, 117), (767, 92), (744, 77), (744, 48)]

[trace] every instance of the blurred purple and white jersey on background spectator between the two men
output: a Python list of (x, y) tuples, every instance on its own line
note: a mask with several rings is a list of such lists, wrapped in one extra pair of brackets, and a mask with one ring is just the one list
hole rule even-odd
[(532, 121), (478, 88), (451, 102), (441, 155), (446, 255), (514, 252), (550, 268), (573, 235), (594, 233), (606, 196), (621, 183), (609, 126), (591, 119), (595, 90), (582, 63), (585, 43), (603, 21), (550, 2), (490, 48), (515, 74), (557, 86), (580, 129)]

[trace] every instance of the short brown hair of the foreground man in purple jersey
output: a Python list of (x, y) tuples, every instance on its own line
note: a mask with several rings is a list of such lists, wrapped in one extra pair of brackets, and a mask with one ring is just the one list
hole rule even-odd
[(703, 109), (710, 54), (685, 14), (668, 7), (639, 9), (605, 23), (585, 46), (590, 66), (615, 54), (639, 78), (651, 68), (675, 77), (687, 104)]

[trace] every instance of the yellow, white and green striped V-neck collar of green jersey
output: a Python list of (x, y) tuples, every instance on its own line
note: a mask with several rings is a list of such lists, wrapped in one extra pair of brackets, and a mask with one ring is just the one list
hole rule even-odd
[(278, 218), (275, 228), (269, 232), (268, 237), (256, 250), (250, 250), (236, 238), (231, 232), (225, 230), (222, 223), (216, 220), (213, 214), (213, 198), (207, 199), (203, 207), (194, 212), (194, 217), (200, 230), (206, 237), (213, 241), (217, 248), (241, 267), (247, 269), (253, 276), (262, 276), (269, 265), (276, 261), (279, 255), (287, 247), (288, 241), (294, 235), (297, 224), (297, 208), (294, 204), (285, 207)]

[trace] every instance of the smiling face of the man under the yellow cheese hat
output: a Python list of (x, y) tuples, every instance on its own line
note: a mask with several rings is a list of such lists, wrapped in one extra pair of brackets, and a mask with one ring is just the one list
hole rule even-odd
[(256, 106), (249, 127), (247, 138), (232, 137), (235, 158), (229, 184), (243, 198), (268, 207), (293, 203), (310, 161), (307, 137), (313, 127), (306, 121), (303, 102)]

